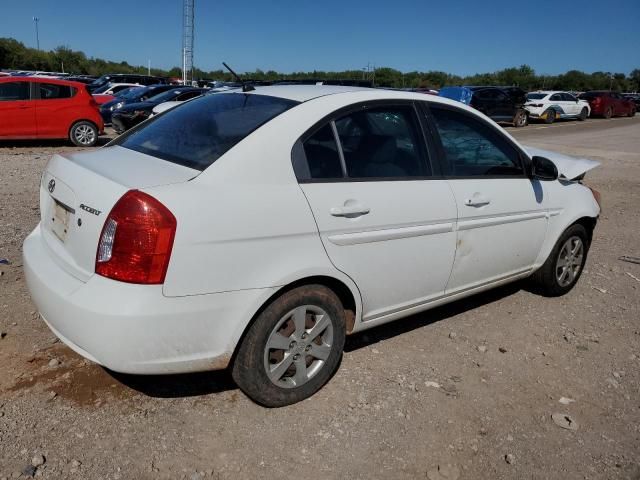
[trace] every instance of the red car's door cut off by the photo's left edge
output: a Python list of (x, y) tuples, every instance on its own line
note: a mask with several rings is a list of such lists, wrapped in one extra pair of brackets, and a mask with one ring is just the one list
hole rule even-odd
[(0, 83), (0, 138), (36, 136), (36, 110), (30, 85), (26, 80)]

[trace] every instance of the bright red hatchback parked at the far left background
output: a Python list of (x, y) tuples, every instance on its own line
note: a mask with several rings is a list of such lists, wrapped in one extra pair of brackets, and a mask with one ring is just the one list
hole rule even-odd
[(0, 140), (68, 138), (92, 147), (104, 133), (98, 104), (82, 83), (0, 78)]

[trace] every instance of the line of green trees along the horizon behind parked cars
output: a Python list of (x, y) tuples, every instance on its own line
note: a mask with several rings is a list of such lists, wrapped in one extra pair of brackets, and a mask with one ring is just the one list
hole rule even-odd
[[(13, 38), (0, 38), (0, 68), (20, 70), (64, 71), (77, 75), (103, 75), (105, 73), (147, 73), (147, 67), (130, 65), (127, 62), (113, 62), (101, 58), (87, 57), (84, 52), (60, 46), (50, 51), (28, 48)], [(170, 70), (151, 69), (152, 75), (182, 77), (179, 67)], [(274, 70), (256, 70), (244, 74), (252, 80), (302, 80), (302, 79), (367, 79), (376, 86), (393, 88), (435, 88), (444, 85), (515, 85), (524, 90), (615, 90), (624, 92), (640, 91), (640, 69), (628, 75), (620, 72), (585, 73), (569, 70), (559, 75), (536, 74), (528, 65), (505, 68), (497, 72), (459, 76), (441, 71), (401, 72), (383, 67), (373, 71), (344, 70), (335, 72), (312, 71), (280, 73)], [(194, 69), (196, 79), (232, 81), (229, 72)]]

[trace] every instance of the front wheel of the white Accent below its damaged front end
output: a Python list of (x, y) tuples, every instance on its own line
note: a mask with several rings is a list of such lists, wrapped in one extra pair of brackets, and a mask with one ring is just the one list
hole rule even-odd
[(560, 236), (549, 258), (531, 277), (540, 293), (558, 297), (578, 282), (589, 251), (589, 236), (580, 224), (569, 227)]

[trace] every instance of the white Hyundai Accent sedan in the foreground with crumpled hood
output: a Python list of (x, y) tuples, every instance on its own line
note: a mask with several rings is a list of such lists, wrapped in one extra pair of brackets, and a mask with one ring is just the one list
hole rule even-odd
[(282, 406), (329, 380), (346, 335), (526, 277), (551, 296), (578, 281), (597, 162), (522, 147), (440, 97), (247, 90), (49, 161), (24, 269), (80, 355), (129, 373), (229, 366)]

